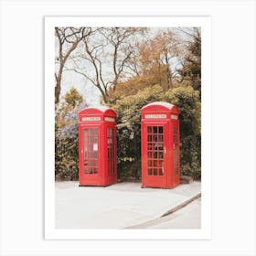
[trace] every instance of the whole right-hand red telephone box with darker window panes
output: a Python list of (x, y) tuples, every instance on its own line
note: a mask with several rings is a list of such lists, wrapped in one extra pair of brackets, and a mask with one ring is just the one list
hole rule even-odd
[(180, 183), (178, 109), (153, 102), (142, 110), (142, 187), (172, 188)]

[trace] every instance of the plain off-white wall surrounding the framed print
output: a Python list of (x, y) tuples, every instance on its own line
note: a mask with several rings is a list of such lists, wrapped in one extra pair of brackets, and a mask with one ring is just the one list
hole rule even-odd
[[(235, 1), (1, 1), (2, 255), (255, 255), (255, 12)], [(212, 17), (212, 239), (44, 240), (44, 16)]]

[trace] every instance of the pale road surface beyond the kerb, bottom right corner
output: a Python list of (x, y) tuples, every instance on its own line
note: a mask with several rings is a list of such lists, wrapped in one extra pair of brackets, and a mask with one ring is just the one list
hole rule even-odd
[(129, 229), (200, 229), (201, 197), (165, 217), (151, 220)]

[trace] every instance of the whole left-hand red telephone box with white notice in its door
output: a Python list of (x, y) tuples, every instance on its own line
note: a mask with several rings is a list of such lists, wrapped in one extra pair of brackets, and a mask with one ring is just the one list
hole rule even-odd
[(116, 112), (108, 107), (80, 111), (80, 186), (109, 186), (116, 183), (116, 159)]

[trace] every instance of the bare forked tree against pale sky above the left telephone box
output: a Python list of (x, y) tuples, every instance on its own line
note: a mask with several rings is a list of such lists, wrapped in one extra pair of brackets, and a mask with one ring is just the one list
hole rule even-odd
[(100, 92), (102, 100), (109, 101), (109, 91), (114, 91), (119, 80), (125, 77), (127, 63), (133, 56), (136, 34), (144, 28), (96, 27), (91, 35), (83, 37), (83, 50), (73, 60), (69, 69), (89, 80)]

